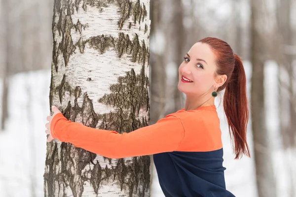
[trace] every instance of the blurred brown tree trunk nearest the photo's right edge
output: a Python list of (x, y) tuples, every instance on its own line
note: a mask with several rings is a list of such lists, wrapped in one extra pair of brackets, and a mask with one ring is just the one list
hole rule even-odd
[[(278, 27), (280, 33), (280, 42), (283, 47), (279, 47), (279, 59), (280, 71), (284, 71), (285, 78), (280, 80), (281, 98), (280, 103), (281, 110), (281, 131), (283, 137), (283, 145), (285, 148), (295, 146), (295, 96), (293, 94), (294, 82), (294, 70), (293, 70), (293, 53), (290, 50), (290, 46), (293, 44), (293, 33), (291, 29), (291, 0), (281, 0), (278, 5)], [(281, 74), (282, 72), (280, 72)], [(286, 73), (286, 74), (285, 74)], [(288, 74), (288, 76), (287, 76)], [(288, 101), (288, 102), (287, 102)], [(290, 117), (287, 117), (287, 115)], [(290, 121), (289, 121), (290, 120)]]

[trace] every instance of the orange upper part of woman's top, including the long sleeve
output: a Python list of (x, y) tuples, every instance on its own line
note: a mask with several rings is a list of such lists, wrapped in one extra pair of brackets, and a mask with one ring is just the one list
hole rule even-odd
[(53, 117), (50, 131), (53, 138), (112, 159), (222, 148), (220, 121), (215, 105), (196, 110), (182, 109), (153, 125), (122, 134), (90, 128), (67, 120), (59, 113)]

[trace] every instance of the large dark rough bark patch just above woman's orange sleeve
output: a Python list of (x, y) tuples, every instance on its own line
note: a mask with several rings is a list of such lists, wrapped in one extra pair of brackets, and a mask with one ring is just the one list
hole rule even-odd
[(122, 133), (148, 126), (146, 117), (142, 120), (136, 118), (140, 109), (149, 110), (148, 81), (145, 66), (142, 66), (140, 74), (131, 69), (125, 76), (118, 77), (117, 83), (110, 87), (111, 94), (98, 99), (98, 102), (115, 108), (111, 113), (99, 115), (102, 120), (99, 129)]

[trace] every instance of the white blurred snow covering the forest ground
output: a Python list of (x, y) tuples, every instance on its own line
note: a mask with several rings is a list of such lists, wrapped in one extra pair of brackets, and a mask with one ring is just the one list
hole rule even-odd
[[(250, 65), (245, 64), (250, 81)], [(278, 197), (288, 197), (288, 176), (284, 170), (284, 155), (281, 151), (278, 133), (276, 66), (266, 67), (268, 80), (267, 121), (272, 137), (274, 168), (277, 169)], [(271, 84), (271, 85), (270, 85)], [(6, 130), (0, 131), (0, 197), (43, 197), (43, 173), (46, 153), (46, 116), (49, 115), (50, 70), (19, 73), (10, 78), (9, 119)], [(0, 93), (2, 85), (0, 84)], [(269, 88), (269, 89), (268, 89)], [(219, 105), (219, 101), (216, 103)], [(234, 160), (228, 127), (222, 112), (222, 103), (218, 108), (221, 118), (224, 146), (224, 166), (226, 187), (236, 197), (257, 197), (255, 168), (253, 158), (243, 157)], [(253, 151), (252, 133), (249, 125), (248, 142)], [(295, 161), (294, 161), (295, 162)], [(295, 163), (294, 163), (295, 164)], [(153, 166), (154, 167), (154, 166)], [(151, 197), (164, 197), (158, 184), (157, 174), (152, 171), (153, 181)], [(296, 186), (295, 186), (296, 187)], [(32, 195), (32, 191), (35, 195)], [(291, 197), (291, 196), (289, 196)]]

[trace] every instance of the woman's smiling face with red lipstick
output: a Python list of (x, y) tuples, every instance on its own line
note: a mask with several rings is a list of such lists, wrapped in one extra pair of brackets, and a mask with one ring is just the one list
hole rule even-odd
[[(215, 84), (215, 60), (216, 56), (208, 44), (195, 43), (179, 66), (178, 89), (186, 95), (194, 96), (212, 93)], [(185, 81), (183, 77), (191, 82)]]

